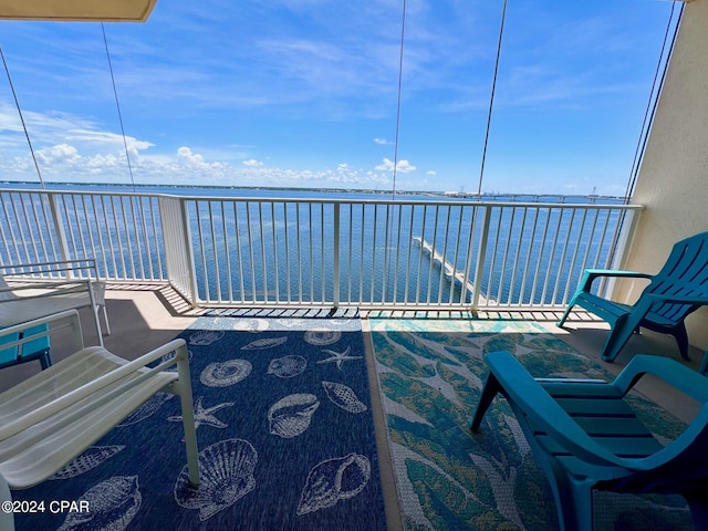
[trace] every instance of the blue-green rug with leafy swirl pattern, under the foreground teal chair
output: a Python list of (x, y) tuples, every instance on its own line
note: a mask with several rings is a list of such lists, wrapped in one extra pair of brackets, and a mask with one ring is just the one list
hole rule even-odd
[[(558, 528), (550, 486), (511, 408), (497, 399), (482, 429), (468, 421), (488, 352), (509, 351), (535, 377), (612, 379), (532, 322), (368, 319), (405, 530)], [(685, 425), (641, 396), (633, 407), (657, 437)], [(595, 494), (595, 530), (690, 530), (677, 496)]]

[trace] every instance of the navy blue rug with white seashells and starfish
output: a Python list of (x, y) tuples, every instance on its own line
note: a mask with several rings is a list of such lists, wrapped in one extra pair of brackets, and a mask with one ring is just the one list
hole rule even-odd
[(386, 528), (358, 319), (200, 317), (188, 343), (201, 485), (188, 487), (177, 397), (158, 394), (14, 500), (90, 512), (22, 530)]

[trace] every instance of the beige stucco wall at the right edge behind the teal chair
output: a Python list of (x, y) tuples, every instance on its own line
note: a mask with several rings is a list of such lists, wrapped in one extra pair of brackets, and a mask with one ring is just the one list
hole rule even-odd
[[(686, 3), (634, 202), (644, 205), (626, 269), (654, 273), (677, 240), (708, 231), (708, 0)], [(615, 298), (632, 302), (638, 285)], [(708, 346), (708, 309), (687, 320), (695, 346)]]

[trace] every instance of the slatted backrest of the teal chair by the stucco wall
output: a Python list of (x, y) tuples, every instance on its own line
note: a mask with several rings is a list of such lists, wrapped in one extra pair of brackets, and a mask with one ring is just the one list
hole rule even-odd
[[(644, 293), (705, 296), (708, 301), (708, 232), (675, 243), (666, 263)], [(647, 316), (679, 323), (698, 308), (699, 304), (657, 303)]]

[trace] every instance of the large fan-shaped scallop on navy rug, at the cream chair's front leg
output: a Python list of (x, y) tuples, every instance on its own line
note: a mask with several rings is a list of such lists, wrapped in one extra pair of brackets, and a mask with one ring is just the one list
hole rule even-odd
[(200, 485), (189, 485), (187, 466), (175, 483), (175, 501), (199, 511), (199, 520), (210, 519), (256, 488), (256, 448), (243, 439), (216, 442), (199, 452)]

